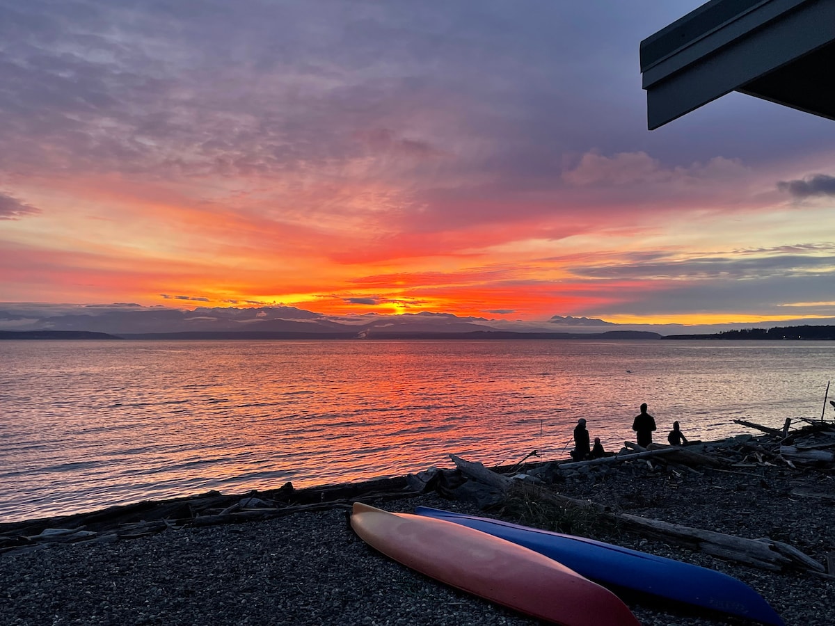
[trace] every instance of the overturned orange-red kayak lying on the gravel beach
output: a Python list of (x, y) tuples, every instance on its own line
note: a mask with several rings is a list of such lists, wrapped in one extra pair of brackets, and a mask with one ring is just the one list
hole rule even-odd
[(372, 548), (452, 587), (563, 626), (640, 626), (620, 598), (517, 543), (458, 523), (356, 502), (351, 525)]

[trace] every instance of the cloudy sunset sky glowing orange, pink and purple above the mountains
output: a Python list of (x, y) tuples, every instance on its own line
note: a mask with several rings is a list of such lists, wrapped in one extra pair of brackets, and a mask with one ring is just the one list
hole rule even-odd
[(699, 0), (0, 0), (0, 301), (835, 316), (835, 122), (646, 129)]

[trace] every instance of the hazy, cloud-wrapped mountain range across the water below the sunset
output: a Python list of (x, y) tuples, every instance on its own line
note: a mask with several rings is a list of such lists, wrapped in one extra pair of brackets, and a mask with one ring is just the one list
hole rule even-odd
[[(822, 326), (835, 319), (812, 321), (808, 327)], [(798, 326), (807, 327), (798, 320)], [(785, 321), (782, 329), (787, 328)], [(759, 326), (752, 329), (752, 326)], [(197, 307), (194, 310), (135, 304), (40, 305), (0, 303), (0, 338), (54, 337), (52, 333), (104, 333), (125, 339), (659, 339), (720, 338), (772, 339), (780, 334), (777, 323), (759, 325), (681, 326), (619, 325), (587, 317), (553, 316), (546, 321), (507, 321), (483, 317), (458, 317), (449, 313), (415, 313), (353, 316), (326, 316), (291, 306)], [(769, 331), (771, 328), (771, 331)], [(789, 328), (796, 328), (791, 326)], [(746, 336), (752, 330), (765, 336)], [(726, 333), (735, 332), (730, 336)], [(792, 331), (787, 336), (793, 338)], [(811, 331), (810, 331), (811, 332)], [(827, 331), (815, 331), (814, 338), (831, 338)], [(785, 333), (784, 333), (785, 334)], [(806, 338), (803, 332), (798, 337)], [(69, 335), (63, 335), (69, 338)], [(811, 336), (809, 338), (812, 338)]]

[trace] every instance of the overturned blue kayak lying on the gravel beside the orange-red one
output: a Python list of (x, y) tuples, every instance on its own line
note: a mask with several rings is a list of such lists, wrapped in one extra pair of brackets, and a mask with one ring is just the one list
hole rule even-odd
[(660, 598), (665, 603), (689, 604), (756, 622), (785, 626), (759, 593), (741, 580), (712, 569), (594, 539), (550, 533), (488, 517), (430, 507), (417, 507), (415, 512), (518, 543), (559, 561), (615, 593), (639, 593)]

